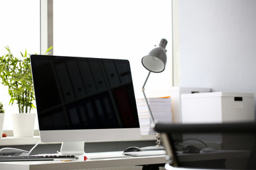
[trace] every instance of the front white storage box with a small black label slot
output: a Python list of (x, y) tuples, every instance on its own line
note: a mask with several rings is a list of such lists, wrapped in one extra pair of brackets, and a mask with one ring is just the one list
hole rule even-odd
[(254, 94), (183, 94), (182, 123), (255, 121)]

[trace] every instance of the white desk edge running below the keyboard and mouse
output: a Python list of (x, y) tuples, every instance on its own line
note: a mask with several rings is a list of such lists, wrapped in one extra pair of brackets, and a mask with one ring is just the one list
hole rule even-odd
[(64, 169), (95, 169), (117, 166), (136, 166), (146, 164), (165, 164), (166, 156), (154, 157), (122, 157), (114, 159), (93, 159), (87, 161), (42, 161), (42, 162), (1, 162), (1, 170), (64, 170)]

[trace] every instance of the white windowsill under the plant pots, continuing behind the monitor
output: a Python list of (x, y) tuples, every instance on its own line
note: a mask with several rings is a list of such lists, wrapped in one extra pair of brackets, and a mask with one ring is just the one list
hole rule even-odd
[[(142, 135), (139, 140), (131, 141), (147, 141), (156, 140), (156, 135)], [(10, 146), (10, 145), (36, 145), (40, 141), (39, 136), (34, 137), (2, 137), (0, 138), (0, 146)], [(99, 141), (87, 141), (87, 142), (99, 142)], [(102, 142), (102, 141), (101, 141)], [(125, 142), (125, 141), (103, 141), (103, 142)], [(53, 143), (41, 143), (41, 144), (53, 144)]]

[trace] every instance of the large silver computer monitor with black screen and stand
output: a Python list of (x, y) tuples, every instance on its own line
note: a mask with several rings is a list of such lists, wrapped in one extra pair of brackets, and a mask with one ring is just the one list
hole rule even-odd
[(83, 154), (85, 141), (141, 137), (128, 60), (31, 55), (41, 142)]

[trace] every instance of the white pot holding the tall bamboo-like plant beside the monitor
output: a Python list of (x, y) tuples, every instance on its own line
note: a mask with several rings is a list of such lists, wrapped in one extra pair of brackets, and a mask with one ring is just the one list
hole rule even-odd
[(12, 113), (14, 137), (33, 137), (36, 113)]

